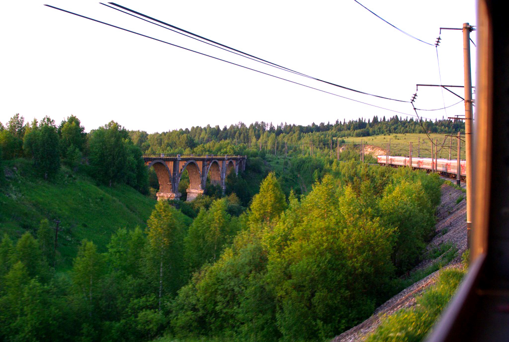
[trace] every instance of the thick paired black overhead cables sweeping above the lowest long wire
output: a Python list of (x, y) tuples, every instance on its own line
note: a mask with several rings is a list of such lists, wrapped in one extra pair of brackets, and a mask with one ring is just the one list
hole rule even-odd
[[(311, 78), (312, 80), (315, 80), (315, 81), (323, 82), (323, 83), (325, 83), (325, 84), (328, 84), (328, 85), (331, 85), (331, 86), (334, 86), (334, 87), (338, 87), (338, 88), (342, 88), (342, 89), (345, 89), (345, 90), (353, 91), (353, 92), (356, 92), (356, 93), (359, 93), (359, 94), (364, 94), (364, 95), (374, 96), (374, 97), (383, 98), (383, 99), (391, 100), (391, 101), (409, 102), (409, 101), (407, 101), (407, 100), (400, 100), (400, 99), (395, 99), (395, 98), (391, 98), (391, 97), (386, 97), (386, 96), (376, 95), (376, 94), (372, 94), (372, 93), (367, 93), (367, 92), (360, 91), (360, 90), (357, 90), (357, 89), (353, 89), (353, 88), (350, 88), (350, 87), (342, 86), (342, 85), (339, 85), (339, 84), (336, 84), (336, 83), (333, 83), (333, 82), (329, 82), (329, 81), (321, 80), (321, 79), (320, 79), (320, 78), (318, 78), (318, 77), (313, 77), (313, 76), (307, 75), (307, 74), (305, 74), (305, 73), (302, 73), (302, 72), (299, 72), (299, 71), (292, 70), (292, 69), (290, 69), (290, 68), (287, 68), (287, 67), (281, 66), (281, 65), (279, 65), (279, 64), (276, 64), (276, 63), (273, 63), (273, 62), (267, 61), (267, 60), (265, 60), (265, 59), (263, 59), (263, 58), (260, 58), (260, 57), (256, 57), (256, 56), (250, 55), (250, 54), (248, 54), (247, 52), (244, 52), (244, 51), (238, 50), (238, 49), (233, 48), (233, 47), (231, 47), (231, 46), (228, 46), (228, 45), (225, 45), (225, 44), (221, 44), (221, 43), (219, 43), (219, 42), (217, 42), (217, 41), (214, 41), (214, 40), (212, 40), (212, 39), (209, 39), (209, 38), (206, 38), (206, 37), (203, 37), (203, 36), (200, 36), (200, 35), (194, 34), (194, 33), (190, 32), (190, 31), (187, 31), (187, 30), (184, 30), (184, 29), (178, 28), (178, 27), (176, 27), (175, 25), (169, 24), (169, 23), (167, 23), (167, 22), (164, 22), (164, 21), (162, 21), (162, 20), (156, 19), (156, 18), (151, 17), (151, 16), (149, 16), (149, 15), (146, 15), (146, 14), (143, 14), (143, 13), (140, 13), (140, 12), (137, 12), (137, 11), (135, 11), (135, 10), (132, 10), (132, 9), (130, 9), (130, 8), (127, 8), (127, 7), (124, 7), (124, 6), (122, 6), (122, 5), (119, 5), (119, 4), (116, 4), (116, 3), (108, 3), (108, 4), (111, 4), (111, 5), (114, 5), (114, 6), (116, 6), (116, 7), (119, 7), (119, 8), (121, 8), (121, 9), (125, 10), (125, 11), (129, 11), (129, 12), (131, 12), (131, 13), (134, 13), (134, 14), (136, 14), (136, 15), (137, 15), (137, 16), (134, 16), (134, 17), (136, 17), (136, 18), (138, 18), (138, 19), (145, 20), (145, 19), (143, 19), (143, 18), (140, 18), (140, 17), (139, 17), (139, 16), (142, 16), (142, 17), (144, 17), (144, 18), (147, 18), (147, 19), (153, 20), (153, 21), (155, 21), (155, 22), (161, 23), (161, 24), (163, 24), (163, 25), (166, 25), (167, 27), (170, 27), (170, 28), (173, 28), (173, 29), (175, 29), (175, 30), (181, 31), (181, 32), (185, 33), (184, 35), (185, 35), (186, 37), (189, 37), (189, 38), (193, 38), (193, 37), (195, 37), (195, 38), (193, 38), (193, 39), (198, 40), (198, 41), (201, 41), (201, 42), (206, 43), (206, 44), (209, 44), (209, 45), (211, 45), (210, 43), (215, 44), (215, 45), (213, 45), (213, 46), (216, 46), (216, 47), (221, 48), (221, 49), (223, 49), (223, 50), (224, 50), (225, 48), (226, 48), (226, 49), (229, 49), (229, 50), (227, 50), (227, 51), (232, 52), (232, 53), (234, 53), (234, 54), (236, 54), (236, 55), (242, 54), (241, 56), (243, 56), (243, 57), (249, 58), (249, 59), (251, 59), (251, 60), (254, 60), (254, 61), (257, 61), (257, 62), (260, 62), (260, 63), (266, 64), (266, 65), (270, 65), (270, 66), (276, 67), (276, 68), (278, 68), (278, 69), (282, 69), (282, 70), (285, 70), (285, 71), (289, 71), (289, 72), (292, 72), (292, 73), (298, 74), (298, 75), (300, 75), (300, 76), (304, 76), (304, 77)], [(107, 7), (112, 8), (111, 6), (108, 6), (108, 5), (105, 5), (105, 4), (102, 4), (102, 3), (101, 3), (101, 5), (104, 5), (104, 6), (107, 6)], [(132, 14), (127, 13), (127, 12), (124, 12), (124, 11), (121, 11), (121, 12), (122, 12), (122, 13), (125, 13), (125, 14), (132, 15)], [(133, 15), (132, 15), (132, 16), (133, 16)], [(147, 20), (145, 20), (145, 21), (147, 21)], [(152, 23), (152, 24), (156, 24), (155, 22), (152, 22), (152, 21), (148, 21), (148, 22), (150, 22), (150, 23)], [(156, 24), (156, 25), (160, 26), (159, 24)], [(171, 30), (171, 31), (174, 31), (174, 30)], [(174, 32), (175, 32), (175, 31), (174, 31)], [(190, 37), (189, 35), (191, 35), (192, 37)], [(199, 39), (196, 39), (196, 38), (199, 38)], [(207, 43), (207, 42), (209, 42), (209, 43)]]

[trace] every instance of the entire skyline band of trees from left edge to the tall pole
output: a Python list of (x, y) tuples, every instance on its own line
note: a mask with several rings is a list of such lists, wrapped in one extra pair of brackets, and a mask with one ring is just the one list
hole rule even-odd
[[(143, 166), (142, 153), (241, 154), (262, 158), (266, 154), (288, 153), (293, 159), (312, 155), (325, 161), (327, 157), (335, 156), (337, 143), (343, 143), (345, 137), (392, 133), (456, 133), (458, 130), (464, 130), (464, 123), (460, 120), (419, 122), (395, 115), (389, 119), (374, 116), (367, 121), (359, 118), (348, 122), (336, 120), (333, 124), (322, 122), (307, 126), (287, 123), (274, 126), (263, 121), (247, 126), (239, 122), (228, 128), (194, 126), (153, 134), (140, 130), (128, 131), (111, 121), (87, 134), (75, 116), (56, 125), (48, 117), (41, 122), (34, 120), (32, 123), (24, 123), (23, 117), (16, 114), (5, 127), (0, 123), (0, 150), (4, 160), (17, 157), (32, 159), (35, 170), (44, 178), (54, 177), (63, 164), (86, 171), (104, 185), (126, 183), (147, 193), (148, 171)], [(332, 153), (329, 153), (330, 150)], [(341, 159), (356, 158), (356, 153), (347, 149), (342, 152)], [(289, 167), (286, 170), (290, 170), (292, 165), (284, 166), (284, 170), (286, 167)], [(296, 172), (290, 175), (292, 182), (294, 185), (302, 185), (300, 173), (293, 169)], [(153, 174), (151, 179), (150, 185), (157, 189), (157, 179)], [(186, 175), (182, 180), (182, 191), (185, 192)], [(306, 181), (307, 185), (315, 180)], [(240, 187), (238, 190), (242, 191)], [(305, 193), (297, 188), (294, 190), (298, 194)], [(246, 205), (244, 198), (242, 201)]]

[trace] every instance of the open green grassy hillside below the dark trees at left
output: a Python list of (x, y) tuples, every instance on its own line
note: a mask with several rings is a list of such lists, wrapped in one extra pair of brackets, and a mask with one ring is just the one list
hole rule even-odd
[(0, 191), (0, 233), (13, 239), (25, 231), (37, 235), (47, 218), (53, 227), (60, 222), (58, 269), (71, 266), (83, 239), (105, 251), (112, 232), (120, 227), (145, 227), (155, 199), (128, 186), (97, 186), (89, 177), (62, 169), (53, 181), (34, 174), (31, 162), (4, 162), (7, 183)]

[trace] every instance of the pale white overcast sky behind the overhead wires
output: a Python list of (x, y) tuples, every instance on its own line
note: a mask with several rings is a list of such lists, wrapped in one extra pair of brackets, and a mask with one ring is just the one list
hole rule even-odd
[[(7, 2), (0, 12), (0, 122), (77, 116), (87, 131), (114, 120), (148, 133), (255, 121), (313, 122), (415, 115), (410, 103), (354, 93), (253, 62), (157, 27), (98, 2)], [(461, 31), (442, 31), (437, 49), (397, 31), (354, 0), (132, 1), (117, 4), (331, 83), (410, 100), (416, 84), (463, 85)], [(440, 27), (476, 24), (473, 0), (359, 0), (412, 36), (435, 43)], [(201, 56), (59, 7), (326, 92)], [(476, 42), (476, 32), (471, 35)], [(471, 45), (472, 84), (475, 47)], [(463, 97), (463, 89), (457, 89)], [(443, 93), (443, 97), (442, 97)], [(475, 97), (475, 95), (474, 95)], [(415, 107), (460, 98), (419, 87)], [(402, 114), (405, 113), (405, 114)], [(419, 111), (428, 119), (464, 114)]]

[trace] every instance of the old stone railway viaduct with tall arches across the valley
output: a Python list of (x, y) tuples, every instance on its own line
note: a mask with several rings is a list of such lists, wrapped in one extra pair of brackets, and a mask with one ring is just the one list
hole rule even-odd
[(245, 155), (165, 155), (144, 154), (145, 165), (153, 167), (159, 181), (157, 200), (179, 199), (179, 182), (184, 170), (189, 175), (187, 200), (192, 201), (196, 196), (205, 192), (207, 176), (213, 185), (219, 184), (223, 191), (226, 188), (226, 177), (235, 171), (244, 171), (246, 167)]

